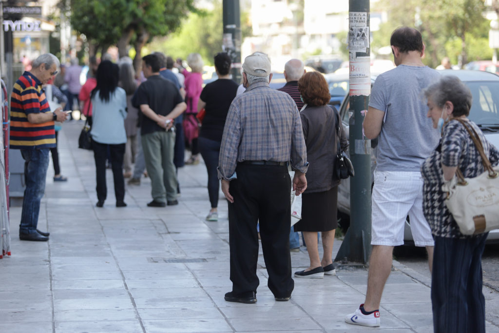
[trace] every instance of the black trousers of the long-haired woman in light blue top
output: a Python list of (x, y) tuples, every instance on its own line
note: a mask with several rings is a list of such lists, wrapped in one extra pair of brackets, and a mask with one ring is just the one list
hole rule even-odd
[(106, 159), (107, 149), (111, 154), (111, 168), (113, 170), (114, 195), (116, 202), (122, 202), (125, 197), (125, 179), (123, 178), (123, 155), (125, 154), (125, 144), (103, 144), (92, 140), (94, 151), (95, 171), (96, 171), (96, 191), (99, 201), (106, 200)]

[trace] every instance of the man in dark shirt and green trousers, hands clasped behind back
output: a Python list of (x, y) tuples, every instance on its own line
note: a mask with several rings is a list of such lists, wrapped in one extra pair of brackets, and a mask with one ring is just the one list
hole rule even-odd
[[(151, 178), (153, 201), (149, 207), (177, 205), (177, 177), (173, 164), (175, 131), (173, 119), (187, 108), (179, 89), (159, 75), (160, 61), (154, 54), (142, 58), (143, 82), (132, 104), (143, 113), (141, 141), (146, 168)], [(165, 204), (165, 201), (167, 202)]]

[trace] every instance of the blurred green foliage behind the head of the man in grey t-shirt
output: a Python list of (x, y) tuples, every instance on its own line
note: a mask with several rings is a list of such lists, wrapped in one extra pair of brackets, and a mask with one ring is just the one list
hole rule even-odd
[[(387, 10), (389, 19), (373, 34), (372, 51), (390, 43), (392, 31), (402, 25), (416, 27), (423, 35), (426, 56), (423, 62), (431, 67), (449, 56), (456, 64), (458, 57), (465, 62), (480, 52), (492, 52), (488, 39), (489, 20), (483, 17), (483, 0), (380, 0), (371, 10)], [(483, 48), (486, 46), (485, 48)], [(475, 50), (476, 47), (482, 47)]]

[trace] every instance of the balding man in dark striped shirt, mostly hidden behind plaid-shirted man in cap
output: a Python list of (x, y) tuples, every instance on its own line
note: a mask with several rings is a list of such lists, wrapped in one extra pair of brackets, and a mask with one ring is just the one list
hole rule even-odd
[[(286, 79), (286, 84), (277, 90), (284, 91), (291, 96), (291, 98), (296, 103), (298, 110), (303, 107), (303, 101), (301, 100), (301, 94), (298, 90), (298, 80), (305, 73), (303, 68), (303, 62), (299, 59), (291, 59), (284, 65), (284, 78)], [(292, 252), (300, 251), (300, 235), (295, 232), (293, 228), (289, 232), (289, 249)]]

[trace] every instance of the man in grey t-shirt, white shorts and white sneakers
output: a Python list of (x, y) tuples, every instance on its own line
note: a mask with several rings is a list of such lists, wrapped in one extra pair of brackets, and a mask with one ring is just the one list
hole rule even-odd
[(364, 304), (345, 318), (349, 324), (370, 327), (380, 326), (381, 295), (392, 268), (393, 247), (404, 244), (407, 215), (415, 245), (428, 251), (430, 269), (433, 258), (433, 237), (423, 216), (420, 165), (437, 146), (439, 134), (426, 117), (421, 90), (440, 74), (421, 61), (425, 45), (418, 30), (398, 28), (390, 44), (397, 67), (374, 82), (363, 124), (367, 138), (379, 136), (367, 293)]

